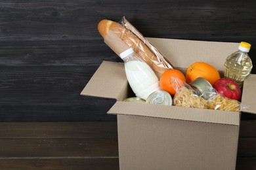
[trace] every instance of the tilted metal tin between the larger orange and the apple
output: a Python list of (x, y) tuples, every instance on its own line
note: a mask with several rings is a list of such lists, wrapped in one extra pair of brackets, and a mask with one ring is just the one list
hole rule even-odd
[(213, 86), (211, 86), (211, 84), (205, 80), (205, 78), (198, 77), (196, 80), (190, 82), (189, 84), (194, 90), (196, 90), (198, 95), (202, 95), (204, 99), (207, 99), (209, 94), (213, 92)]

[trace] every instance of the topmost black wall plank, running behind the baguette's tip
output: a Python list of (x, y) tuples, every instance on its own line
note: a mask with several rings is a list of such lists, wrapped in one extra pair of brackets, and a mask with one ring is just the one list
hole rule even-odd
[[(255, 3), (248, 1), (3, 1), (3, 38), (95, 37), (99, 20), (127, 16), (142, 33), (186, 39), (255, 39)], [(134, 9), (134, 10), (131, 10)], [(236, 10), (234, 10), (236, 9)], [(246, 27), (240, 29), (241, 26)], [(17, 27), (18, 25), (18, 27)], [(29, 25), (29, 26), (28, 26)], [(19, 31), (17, 31), (17, 29)]]

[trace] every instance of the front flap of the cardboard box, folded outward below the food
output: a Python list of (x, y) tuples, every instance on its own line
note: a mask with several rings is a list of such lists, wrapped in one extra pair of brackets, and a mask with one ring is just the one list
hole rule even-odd
[(188, 120), (194, 122), (228, 124), (234, 126), (239, 126), (240, 124), (240, 112), (151, 105), (144, 103), (129, 103), (123, 101), (117, 101), (108, 111), (108, 114), (148, 116), (154, 118)]

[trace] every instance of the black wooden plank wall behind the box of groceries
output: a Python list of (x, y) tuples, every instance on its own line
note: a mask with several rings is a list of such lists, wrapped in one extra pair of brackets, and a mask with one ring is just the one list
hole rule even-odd
[(119, 61), (96, 27), (122, 16), (145, 37), (250, 42), (256, 65), (253, 0), (2, 0), (0, 122), (116, 120), (114, 101), (79, 93), (103, 60)]

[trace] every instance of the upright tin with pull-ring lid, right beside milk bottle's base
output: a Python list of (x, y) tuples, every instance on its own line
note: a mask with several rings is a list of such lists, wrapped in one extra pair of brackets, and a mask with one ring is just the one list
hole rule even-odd
[(156, 105), (172, 105), (173, 99), (168, 92), (165, 92), (164, 90), (158, 90), (148, 96), (146, 103)]

